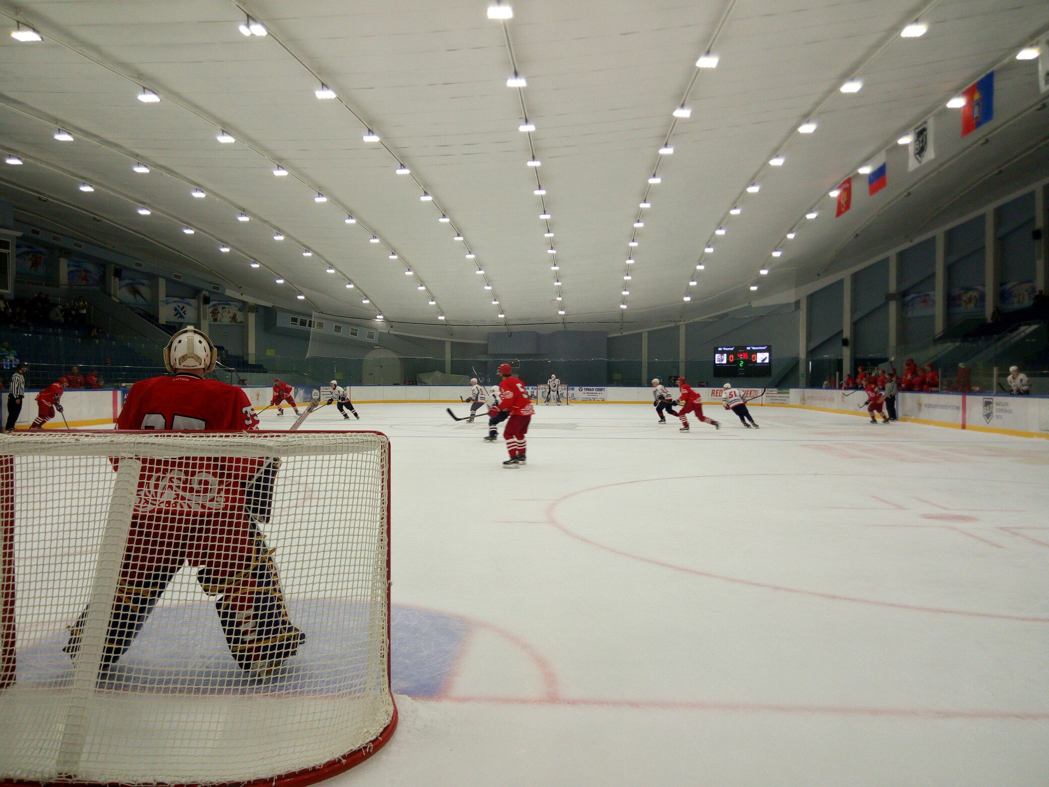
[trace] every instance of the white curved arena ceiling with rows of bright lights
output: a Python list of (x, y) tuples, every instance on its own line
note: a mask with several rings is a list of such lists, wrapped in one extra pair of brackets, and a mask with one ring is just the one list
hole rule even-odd
[[(964, 213), (988, 173), (1046, 168), (1049, 93), (1015, 59), (1044, 0), (491, 4), (0, 0), (42, 39), (0, 43), (0, 146), (22, 162), (0, 196), (264, 302), (447, 336), (789, 298)], [(994, 120), (962, 139), (944, 105), (990, 69)], [(929, 115), (936, 158), (907, 173), (896, 141)]]

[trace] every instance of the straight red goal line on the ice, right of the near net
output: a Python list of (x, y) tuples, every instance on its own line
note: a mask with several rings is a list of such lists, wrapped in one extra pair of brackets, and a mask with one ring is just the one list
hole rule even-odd
[(889, 716), (903, 719), (1001, 719), (1046, 721), (1044, 710), (941, 710), (939, 708), (863, 707), (851, 705), (786, 705), (754, 702), (688, 700), (615, 700), (587, 698), (530, 699), (527, 697), (418, 698), (419, 702), (455, 702), (484, 705), (555, 705), (576, 707), (634, 708), (638, 710), (727, 710), (738, 714), (820, 714), (834, 716)]

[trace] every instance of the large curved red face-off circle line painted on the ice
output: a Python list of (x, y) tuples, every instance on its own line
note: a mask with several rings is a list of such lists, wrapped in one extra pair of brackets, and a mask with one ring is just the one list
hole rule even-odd
[[(664, 481), (695, 481), (695, 480), (712, 480), (712, 478), (744, 478), (744, 477), (798, 477), (798, 476), (811, 476), (811, 477), (827, 477), (827, 478), (843, 478), (843, 477), (858, 477), (870, 480), (873, 477), (887, 477), (887, 478), (911, 478), (909, 475), (871, 475), (870, 473), (712, 473), (709, 475), (673, 475), (663, 478), (638, 478), (636, 481), (620, 481), (614, 484), (600, 484), (596, 487), (588, 487), (586, 489), (578, 489), (575, 492), (569, 492), (561, 497), (553, 501), (547, 507), (547, 518), (550, 524), (560, 530), (564, 535), (570, 538), (575, 538), (578, 541), (590, 545), (596, 549), (603, 550), (605, 552), (611, 552), (614, 555), (620, 555), (622, 557), (628, 557), (631, 560), (638, 560), (639, 562), (645, 562), (649, 566), (658, 566), (663, 569), (669, 569), (670, 571), (680, 571), (683, 574), (691, 574), (693, 576), (702, 576), (707, 579), (719, 579), (723, 582), (731, 582), (733, 584), (743, 584), (749, 588), (761, 588), (763, 590), (773, 590), (780, 593), (794, 593), (800, 596), (812, 596), (813, 598), (826, 598), (832, 601), (850, 601), (853, 603), (869, 604), (871, 607), (883, 607), (893, 610), (907, 610), (909, 612), (929, 612), (936, 613), (938, 615), (959, 615), (961, 617), (973, 617), (973, 618), (990, 618), (992, 620), (1015, 620), (1022, 623), (1049, 623), (1049, 618), (1039, 618), (1039, 617), (1027, 617), (1024, 615), (1005, 615), (997, 612), (973, 612), (971, 610), (951, 610), (949, 608), (943, 607), (924, 607), (921, 604), (905, 604), (897, 601), (881, 601), (874, 598), (860, 598), (858, 596), (845, 596), (840, 593), (825, 593), (822, 591), (805, 590), (802, 588), (788, 588), (782, 584), (772, 584), (771, 582), (758, 582), (753, 579), (744, 579), (743, 577), (726, 576), (724, 574), (714, 574), (709, 571), (700, 571), (699, 569), (690, 569), (686, 566), (676, 566), (675, 563), (665, 562), (664, 560), (657, 560), (651, 557), (644, 557), (642, 555), (635, 554), (633, 552), (626, 552), (624, 550), (616, 549), (615, 547), (608, 547), (604, 544), (600, 544), (585, 536), (579, 535), (578, 533), (573, 533), (566, 527), (561, 525), (557, 520), (556, 509), (557, 507), (572, 497), (575, 497), (586, 492), (593, 492), (598, 489), (612, 489), (613, 487), (629, 486), (633, 484), (650, 484), (654, 482), (664, 482)], [(948, 477), (944, 475), (926, 475), (923, 476), (927, 481), (958, 481), (955, 477)], [(1015, 481), (1012, 478), (1003, 480), (999, 483), (1008, 484), (1033, 484), (1033, 482), (1023, 482)]]

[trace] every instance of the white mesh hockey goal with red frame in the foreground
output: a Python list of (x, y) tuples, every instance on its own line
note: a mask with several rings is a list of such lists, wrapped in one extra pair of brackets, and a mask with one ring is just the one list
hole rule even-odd
[(0, 438), (0, 782), (301, 787), (395, 722), (385, 435)]

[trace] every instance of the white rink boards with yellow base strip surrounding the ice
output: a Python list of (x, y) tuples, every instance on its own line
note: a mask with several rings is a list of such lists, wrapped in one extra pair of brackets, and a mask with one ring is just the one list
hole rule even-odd
[[(320, 387), (320, 386), (319, 386)], [(745, 388), (738, 389), (750, 399), (751, 406), (797, 407), (801, 409), (866, 417), (861, 408), (863, 391), (825, 388)], [(273, 390), (269, 386), (244, 387), (244, 392), (261, 410), (270, 404)], [(721, 404), (721, 388), (699, 389), (704, 404)], [(300, 405), (309, 401), (313, 388), (298, 386), (295, 400)], [(321, 387), (322, 397), (327, 388)], [(467, 389), (451, 385), (361, 385), (350, 391), (355, 404), (384, 402), (459, 403)], [(25, 404), (16, 428), (26, 429), (37, 417), (36, 390), (26, 391)], [(112, 425), (124, 403), (126, 389), (67, 390), (62, 397), (69, 426), (91, 427)], [(651, 406), (650, 388), (585, 387), (573, 389), (575, 404), (643, 404)], [(585, 397), (585, 401), (583, 398)], [(2, 396), (3, 418), (6, 419), (6, 396)], [(1049, 439), (1049, 397), (984, 396), (980, 393), (919, 393), (901, 391), (897, 398), (901, 421), (954, 429), (968, 429), (997, 434)], [(541, 409), (540, 409), (541, 412)], [(61, 416), (46, 428), (64, 428)]]

